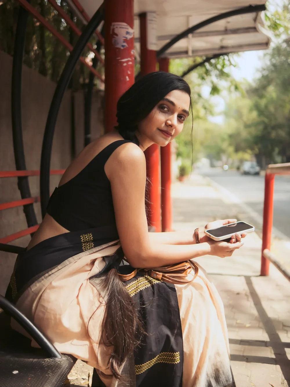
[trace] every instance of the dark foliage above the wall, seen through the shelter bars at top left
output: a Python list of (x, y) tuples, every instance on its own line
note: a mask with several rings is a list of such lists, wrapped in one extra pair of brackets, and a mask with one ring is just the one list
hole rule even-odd
[[(72, 14), (64, 0), (57, 0), (58, 5), (65, 10), (68, 16), (82, 31), (84, 24)], [(31, 0), (31, 5), (36, 9), (52, 27), (60, 33), (72, 46), (75, 45), (78, 36), (70, 26), (61, 19), (58, 12), (47, 0)], [(14, 41), (19, 13), (19, 3), (15, 0), (4, 0), (0, 5), (0, 50), (13, 56)], [(96, 43), (96, 38), (91, 39)], [(83, 56), (89, 60), (89, 49), (85, 48)], [(40, 74), (57, 82), (67, 62), (69, 50), (46, 27), (29, 14), (26, 25), (26, 39), (24, 47), (24, 63)], [(79, 89), (86, 82), (89, 70), (80, 62), (77, 63), (70, 84), (74, 89)]]

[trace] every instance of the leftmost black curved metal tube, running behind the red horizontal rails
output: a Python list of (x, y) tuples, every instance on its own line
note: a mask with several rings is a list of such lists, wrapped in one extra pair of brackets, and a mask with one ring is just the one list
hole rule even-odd
[[(28, 1), (30, 2), (30, 0)], [(21, 120), (21, 81), (25, 32), (28, 16), (29, 13), (20, 6), (15, 34), (11, 84), (12, 136), (15, 166), (17, 170), (26, 170)], [(18, 188), (22, 199), (31, 197), (28, 176), (18, 178)], [(28, 227), (38, 224), (33, 204), (25, 204), (23, 206), (23, 211)]]

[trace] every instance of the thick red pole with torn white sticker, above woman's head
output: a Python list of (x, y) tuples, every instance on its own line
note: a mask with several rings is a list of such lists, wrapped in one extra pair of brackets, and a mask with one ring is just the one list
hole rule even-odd
[(105, 130), (117, 123), (117, 102), (134, 83), (133, 0), (105, 0)]

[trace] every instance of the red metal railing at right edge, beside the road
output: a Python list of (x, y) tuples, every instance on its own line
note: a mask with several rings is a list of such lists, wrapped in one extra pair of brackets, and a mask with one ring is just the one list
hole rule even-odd
[(263, 213), (263, 241), (261, 256), (261, 276), (269, 275), (270, 262), (290, 281), (290, 273), (283, 268), (271, 254), (271, 236), (273, 227), (273, 198), (275, 175), (290, 175), (290, 163), (270, 164), (265, 175), (264, 213)]

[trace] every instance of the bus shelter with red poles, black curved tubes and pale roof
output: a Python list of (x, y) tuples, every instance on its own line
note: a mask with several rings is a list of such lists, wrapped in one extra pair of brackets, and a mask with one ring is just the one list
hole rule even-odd
[[(90, 142), (90, 111), (92, 109), (91, 93), (94, 78), (104, 84), (105, 130), (110, 131), (116, 125), (116, 102), (123, 92), (135, 81), (135, 77), (159, 70), (168, 71), (171, 58), (201, 57), (199, 64), (189, 68), (188, 74), (198, 65), (202, 65), (219, 55), (248, 50), (268, 48), (270, 38), (263, 26), (264, 0), (252, 5), (244, 0), (233, 4), (229, 0), (221, 2), (174, 2), (166, 0), (68, 0), (72, 14), (84, 22), (80, 31), (73, 19), (55, 0), (49, 3), (56, 10), (58, 17), (69, 24), (78, 36), (73, 47), (37, 9), (27, 0), (16, 0), (20, 10), (15, 35), (12, 68), (12, 134), (16, 171), (3, 171), (1, 177), (17, 176), (21, 200), (1, 204), (0, 209), (22, 206), (28, 228), (0, 238), (3, 251), (19, 252), (16, 246), (8, 245), (24, 235), (29, 235), (38, 228), (34, 203), (41, 202), (44, 216), (49, 200), (49, 180), (51, 174), (60, 174), (62, 170), (51, 170), (51, 149), (56, 121), (64, 92), (72, 77), (78, 61), (90, 70), (85, 104), (85, 145)], [(41, 150), (40, 171), (27, 171), (22, 139), (22, 60), (25, 43), (27, 18), (33, 17), (43, 24), (48, 31), (61, 41), (70, 55), (56, 85), (50, 104)], [(93, 47), (89, 40), (96, 36)], [(85, 47), (92, 55), (92, 64), (82, 57)], [(104, 58), (100, 51), (104, 47)], [(96, 64), (104, 65), (104, 76), (96, 70)], [(135, 63), (140, 63), (140, 74), (135, 74)], [(157, 66), (157, 63), (159, 64)], [(172, 224), (171, 209), (171, 145), (159, 149), (152, 145), (146, 150), (147, 175), (150, 211), (148, 224), (156, 231), (169, 231)], [(40, 175), (40, 197), (31, 197), (28, 176)]]

